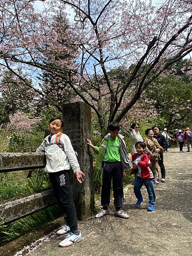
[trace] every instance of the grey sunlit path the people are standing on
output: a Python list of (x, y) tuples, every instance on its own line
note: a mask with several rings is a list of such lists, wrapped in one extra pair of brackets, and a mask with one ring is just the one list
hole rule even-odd
[[(184, 148), (186, 151), (186, 148)], [(192, 151), (179, 153), (171, 148), (164, 154), (166, 183), (155, 186), (156, 207), (147, 212), (148, 196), (143, 188), (144, 202), (135, 206), (133, 190), (125, 198), (124, 210), (130, 219), (111, 214), (79, 222), (83, 241), (60, 248), (64, 237), (50, 236), (32, 256), (191, 256), (192, 255)], [(24, 255), (24, 254), (23, 254)]]

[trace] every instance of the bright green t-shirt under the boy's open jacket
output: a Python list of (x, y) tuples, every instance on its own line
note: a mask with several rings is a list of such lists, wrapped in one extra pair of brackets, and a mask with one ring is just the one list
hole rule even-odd
[(119, 139), (116, 137), (115, 140), (111, 140), (111, 137), (108, 139), (108, 146), (106, 148), (105, 157), (103, 159), (107, 162), (120, 162), (120, 153), (119, 153)]

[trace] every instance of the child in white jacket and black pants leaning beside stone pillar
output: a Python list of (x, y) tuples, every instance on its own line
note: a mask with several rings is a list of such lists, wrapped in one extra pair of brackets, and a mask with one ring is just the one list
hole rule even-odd
[[(36, 152), (44, 152), (47, 159), (45, 172), (49, 175), (49, 180), (55, 194), (55, 198), (64, 214), (66, 224), (56, 232), (57, 235), (67, 234), (66, 238), (59, 243), (60, 247), (68, 247), (82, 240), (81, 233), (77, 227), (76, 209), (73, 203), (73, 195), (70, 185), (69, 170), (73, 169), (77, 181), (82, 183), (84, 173), (81, 172), (76, 153), (71, 145), (70, 138), (59, 131), (63, 128), (64, 122), (59, 116), (55, 116), (49, 121), (48, 135)], [(60, 144), (56, 143), (56, 138), (60, 137)], [(27, 177), (31, 177), (29, 171)]]

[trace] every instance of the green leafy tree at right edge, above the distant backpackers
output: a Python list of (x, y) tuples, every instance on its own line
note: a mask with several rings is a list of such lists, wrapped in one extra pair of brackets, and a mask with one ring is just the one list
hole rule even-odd
[(192, 125), (192, 62), (178, 61), (151, 84), (146, 94), (154, 100), (159, 117), (167, 128)]

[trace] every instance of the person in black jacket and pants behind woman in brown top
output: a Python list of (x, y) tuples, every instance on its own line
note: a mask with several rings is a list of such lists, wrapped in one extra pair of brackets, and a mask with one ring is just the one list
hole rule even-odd
[[(162, 134), (160, 134), (160, 128), (157, 125), (155, 125), (152, 127), (152, 130), (154, 132), (154, 138), (157, 140), (159, 145), (165, 150), (166, 138)], [(159, 164), (159, 167), (161, 170), (161, 182), (165, 182), (166, 170), (165, 170), (165, 166), (163, 163), (163, 152), (162, 151), (159, 152), (158, 164)]]

